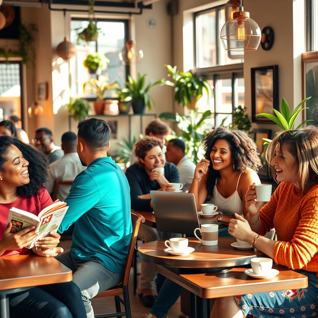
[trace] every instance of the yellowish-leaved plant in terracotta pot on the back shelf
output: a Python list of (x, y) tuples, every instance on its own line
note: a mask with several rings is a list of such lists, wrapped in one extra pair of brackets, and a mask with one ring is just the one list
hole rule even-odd
[[(98, 79), (90, 79), (88, 82), (85, 82), (83, 84), (83, 91), (85, 91), (86, 86), (90, 86), (93, 93), (96, 94), (97, 100), (94, 101), (94, 109), (96, 115), (101, 115), (104, 113), (105, 108), (105, 101), (104, 97), (107, 94), (108, 91), (114, 89), (117, 87), (117, 82), (115, 80), (112, 80), (111, 82), (108, 82), (105, 80), (98, 80)], [(109, 101), (108, 103), (118, 103), (118, 100)]]

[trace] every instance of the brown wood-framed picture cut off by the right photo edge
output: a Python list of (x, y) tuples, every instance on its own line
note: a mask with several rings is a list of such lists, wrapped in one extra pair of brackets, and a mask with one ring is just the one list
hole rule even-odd
[(303, 121), (311, 119), (311, 124), (318, 125), (318, 51), (301, 54), (302, 99), (311, 96), (302, 107), (309, 107), (302, 112)]

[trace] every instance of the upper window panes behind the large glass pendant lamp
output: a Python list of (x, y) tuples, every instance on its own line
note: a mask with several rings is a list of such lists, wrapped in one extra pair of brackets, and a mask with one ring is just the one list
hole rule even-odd
[(196, 67), (211, 67), (243, 63), (244, 52), (226, 51), (220, 40), (226, 22), (224, 6), (195, 13)]

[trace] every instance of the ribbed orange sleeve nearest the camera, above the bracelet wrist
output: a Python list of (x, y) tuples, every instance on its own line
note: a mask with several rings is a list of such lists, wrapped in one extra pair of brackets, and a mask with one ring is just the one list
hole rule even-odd
[(304, 267), (318, 251), (318, 193), (305, 195), (300, 211), (293, 238), (289, 242), (277, 241), (273, 250), (275, 263), (291, 269)]

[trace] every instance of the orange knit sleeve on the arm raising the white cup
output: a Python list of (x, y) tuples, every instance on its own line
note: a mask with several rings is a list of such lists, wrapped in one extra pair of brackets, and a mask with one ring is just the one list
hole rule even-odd
[(259, 235), (264, 236), (271, 229), (273, 229), (273, 219), (277, 208), (277, 202), (280, 194), (282, 183), (277, 187), (274, 193), (271, 196), (271, 200), (267, 202), (260, 210), (259, 210)]

